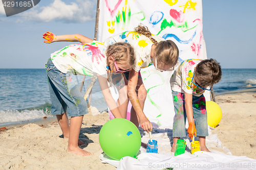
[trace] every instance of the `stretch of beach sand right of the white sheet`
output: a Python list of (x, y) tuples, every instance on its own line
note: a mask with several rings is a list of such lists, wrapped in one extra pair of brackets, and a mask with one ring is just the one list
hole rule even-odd
[(212, 133), (232, 155), (256, 159), (256, 88), (217, 95), (216, 103), (222, 119)]

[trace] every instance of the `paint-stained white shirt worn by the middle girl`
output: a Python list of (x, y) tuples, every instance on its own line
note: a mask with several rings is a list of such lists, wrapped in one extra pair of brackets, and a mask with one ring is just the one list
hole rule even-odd
[[(153, 35), (152, 37), (157, 40), (157, 42), (165, 40), (157, 35)], [(135, 31), (126, 31), (109, 37), (104, 41), (104, 44), (108, 46), (116, 42), (127, 42), (134, 47), (136, 60), (133, 69), (135, 71), (139, 72), (141, 68), (145, 68), (153, 64), (150, 54), (151, 47), (154, 43), (145, 35), (139, 34)]]

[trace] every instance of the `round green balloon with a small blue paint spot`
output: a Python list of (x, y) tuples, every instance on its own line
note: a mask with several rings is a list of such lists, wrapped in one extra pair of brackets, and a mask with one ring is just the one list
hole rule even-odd
[(138, 128), (129, 120), (114, 118), (102, 126), (99, 144), (112, 159), (120, 160), (125, 156), (135, 158), (140, 150), (141, 136)]

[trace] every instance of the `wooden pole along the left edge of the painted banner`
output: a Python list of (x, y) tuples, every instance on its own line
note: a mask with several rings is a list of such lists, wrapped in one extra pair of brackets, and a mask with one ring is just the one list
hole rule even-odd
[[(96, 20), (95, 20), (94, 40), (97, 40), (98, 25), (99, 25), (99, 0), (97, 1), (97, 12), (96, 12)], [(89, 95), (88, 108), (91, 105), (92, 89), (93, 89), (93, 85), (95, 84), (96, 80), (97, 80), (97, 77), (91, 77), (90, 85), (89, 85), (89, 87), (86, 90), (86, 94), (84, 94), (84, 99), (85, 100), (87, 100), (88, 95)]]

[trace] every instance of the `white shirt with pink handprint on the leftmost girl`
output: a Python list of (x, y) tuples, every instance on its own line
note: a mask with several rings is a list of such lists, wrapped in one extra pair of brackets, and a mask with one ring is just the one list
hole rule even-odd
[(54, 65), (63, 73), (107, 78), (106, 46), (98, 41), (71, 44), (51, 54)]

